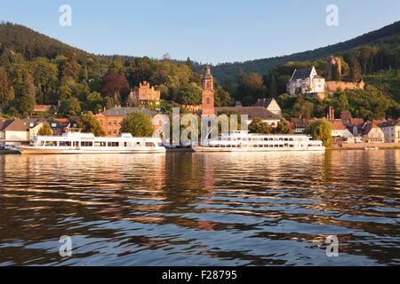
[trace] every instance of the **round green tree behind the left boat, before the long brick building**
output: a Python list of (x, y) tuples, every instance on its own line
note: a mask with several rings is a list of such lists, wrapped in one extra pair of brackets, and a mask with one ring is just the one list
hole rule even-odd
[(134, 111), (124, 118), (121, 132), (129, 132), (133, 137), (151, 137), (154, 128), (148, 114)]

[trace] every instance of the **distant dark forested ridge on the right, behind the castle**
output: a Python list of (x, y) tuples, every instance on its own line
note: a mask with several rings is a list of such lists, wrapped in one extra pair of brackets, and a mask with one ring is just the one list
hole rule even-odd
[[(364, 34), (363, 36), (357, 36), (351, 40), (343, 43), (336, 43), (325, 47), (317, 48), (313, 51), (304, 51), (293, 53), (292, 55), (274, 57), (269, 59), (256, 59), (244, 62), (235, 63), (223, 63), (212, 67), (212, 75), (217, 78), (220, 82), (223, 82), (225, 76), (229, 76), (231, 80), (235, 80), (236, 71), (239, 67), (242, 67), (244, 73), (249, 74), (251, 72), (259, 73), (261, 75), (267, 74), (270, 69), (276, 66), (283, 65), (289, 61), (305, 61), (323, 59), (328, 55), (342, 53), (349, 51), (355, 47), (363, 45), (372, 46), (386, 46), (389, 49), (397, 47), (400, 44), (400, 21), (388, 25), (384, 28), (380, 28)], [(194, 64), (192, 66), (193, 71), (198, 72), (204, 68), (204, 65)]]

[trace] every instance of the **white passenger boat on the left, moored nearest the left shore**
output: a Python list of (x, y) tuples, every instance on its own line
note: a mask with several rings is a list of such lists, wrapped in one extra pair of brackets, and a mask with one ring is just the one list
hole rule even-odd
[(94, 137), (92, 133), (36, 136), (33, 146), (17, 146), (21, 154), (131, 154), (165, 153), (161, 138)]

